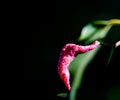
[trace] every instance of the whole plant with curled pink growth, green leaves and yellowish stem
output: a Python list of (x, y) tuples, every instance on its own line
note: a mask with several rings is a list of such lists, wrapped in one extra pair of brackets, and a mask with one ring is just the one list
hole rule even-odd
[[(76, 100), (77, 90), (80, 89), (85, 69), (103, 46), (111, 48), (107, 65), (110, 63), (115, 49), (120, 46), (120, 38), (113, 39), (112, 44), (106, 42), (105, 39), (115, 25), (120, 25), (120, 19), (90, 22), (82, 28), (80, 36), (75, 41), (63, 46), (57, 67), (68, 93), (59, 93), (58, 96), (68, 96), (69, 100)], [(72, 80), (70, 76), (73, 77)]]

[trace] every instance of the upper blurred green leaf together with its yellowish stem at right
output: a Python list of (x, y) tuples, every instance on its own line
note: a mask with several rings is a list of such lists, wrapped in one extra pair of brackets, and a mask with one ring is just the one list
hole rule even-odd
[(120, 19), (111, 19), (111, 20), (98, 20), (91, 22), (83, 27), (79, 41), (94, 41), (98, 39), (103, 39), (107, 32), (110, 30), (112, 25), (120, 25)]

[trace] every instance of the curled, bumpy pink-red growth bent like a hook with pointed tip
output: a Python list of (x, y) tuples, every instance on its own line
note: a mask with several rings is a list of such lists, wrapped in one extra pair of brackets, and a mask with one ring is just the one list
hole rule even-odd
[(94, 41), (92, 44), (87, 46), (81, 46), (76, 44), (68, 43), (66, 44), (60, 54), (58, 62), (58, 73), (66, 85), (68, 91), (70, 91), (70, 73), (68, 70), (69, 64), (73, 61), (76, 54), (85, 53), (90, 50), (95, 49), (100, 43)]

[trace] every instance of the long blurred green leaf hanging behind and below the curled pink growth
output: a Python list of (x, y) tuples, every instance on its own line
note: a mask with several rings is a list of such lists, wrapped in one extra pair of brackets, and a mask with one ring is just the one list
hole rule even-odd
[[(101, 47), (101, 46), (100, 46)], [(73, 79), (71, 80), (70, 100), (75, 100), (76, 92), (81, 86), (84, 71), (87, 65), (92, 61), (100, 47), (95, 50), (89, 51), (84, 54), (79, 54), (74, 61), (70, 64), (69, 70)]]

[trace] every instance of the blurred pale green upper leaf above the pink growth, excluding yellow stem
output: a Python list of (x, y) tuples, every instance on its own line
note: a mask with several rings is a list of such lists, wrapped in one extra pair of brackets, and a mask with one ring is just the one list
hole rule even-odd
[[(102, 21), (102, 23), (106, 23), (106, 21)], [(95, 22), (89, 23), (83, 27), (78, 41), (87, 41), (86, 43), (90, 43), (95, 40), (104, 39), (111, 27), (111, 24), (98, 25), (97, 23), (95, 25)]]

